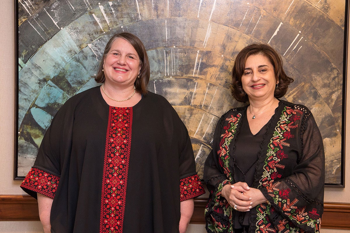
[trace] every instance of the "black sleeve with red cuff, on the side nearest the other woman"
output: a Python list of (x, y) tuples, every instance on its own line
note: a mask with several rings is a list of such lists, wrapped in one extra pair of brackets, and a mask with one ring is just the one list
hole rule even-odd
[[(180, 120), (181, 121), (181, 120)], [(196, 172), (193, 148), (186, 126), (181, 121), (183, 145), (179, 158), (180, 171), (180, 201), (205, 194), (202, 182)]]

